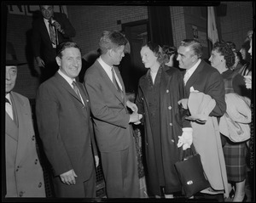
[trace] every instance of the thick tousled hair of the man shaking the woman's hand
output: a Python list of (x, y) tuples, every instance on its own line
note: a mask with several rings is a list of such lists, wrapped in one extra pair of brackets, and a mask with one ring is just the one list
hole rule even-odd
[(125, 46), (127, 42), (126, 37), (119, 31), (103, 31), (99, 46), (102, 54), (106, 54), (108, 49)]

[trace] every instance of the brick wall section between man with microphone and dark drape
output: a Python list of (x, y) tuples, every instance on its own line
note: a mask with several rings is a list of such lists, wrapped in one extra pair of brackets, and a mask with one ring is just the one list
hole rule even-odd
[(98, 48), (102, 31), (121, 31), (121, 24), (148, 19), (146, 6), (67, 6), (67, 12), (77, 31), (73, 40), (79, 43), (83, 55)]

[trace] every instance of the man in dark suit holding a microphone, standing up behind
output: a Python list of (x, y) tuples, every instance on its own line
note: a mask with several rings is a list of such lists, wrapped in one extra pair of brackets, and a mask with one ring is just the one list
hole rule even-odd
[(56, 46), (71, 41), (76, 31), (66, 14), (54, 13), (52, 5), (41, 5), (41, 16), (32, 21), (32, 50), (38, 67), (42, 70), (41, 82), (58, 70), (55, 62)]

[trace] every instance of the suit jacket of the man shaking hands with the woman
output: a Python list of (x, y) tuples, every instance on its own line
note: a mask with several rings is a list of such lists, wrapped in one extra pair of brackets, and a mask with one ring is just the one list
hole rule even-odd
[[(124, 82), (117, 67), (114, 67), (119, 82)], [(86, 70), (84, 84), (91, 103), (96, 140), (101, 152), (113, 152), (127, 149), (132, 134), (129, 125), (130, 116), (125, 101), (114, 87), (102, 65), (96, 62)]]

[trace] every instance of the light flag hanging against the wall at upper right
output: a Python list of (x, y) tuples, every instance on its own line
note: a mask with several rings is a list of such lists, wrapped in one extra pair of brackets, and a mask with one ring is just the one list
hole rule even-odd
[(215, 42), (218, 42), (218, 31), (216, 27), (214, 8), (208, 7), (208, 39), (212, 42), (212, 45)]

